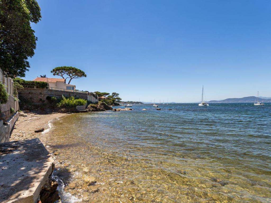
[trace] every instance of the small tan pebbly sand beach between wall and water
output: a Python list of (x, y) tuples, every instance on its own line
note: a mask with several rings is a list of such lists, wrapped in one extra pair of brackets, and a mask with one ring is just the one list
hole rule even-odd
[(19, 116), (11, 131), (10, 141), (40, 138), (41, 132), (35, 133), (34, 130), (40, 128), (46, 130), (49, 128), (48, 122), (50, 120), (67, 115), (64, 113), (36, 114), (28, 111), (24, 113), (27, 114), (27, 117)]

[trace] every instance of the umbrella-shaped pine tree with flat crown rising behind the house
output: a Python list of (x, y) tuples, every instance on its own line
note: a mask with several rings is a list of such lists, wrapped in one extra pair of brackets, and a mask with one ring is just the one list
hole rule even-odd
[[(65, 81), (64, 83), (66, 83), (66, 79), (70, 78), (68, 84), (70, 84), (70, 81), (73, 78), (81, 78), (81, 77), (86, 77), (86, 74), (84, 71), (75, 68), (75, 67), (71, 67), (71, 66), (61, 66), (61, 67), (56, 67), (53, 70), (51, 70), (51, 73), (53, 73), (53, 75), (57, 75), (57, 76), (61, 76)], [(66, 77), (66, 76), (67, 77)], [(65, 77), (66, 78), (65, 78)]]

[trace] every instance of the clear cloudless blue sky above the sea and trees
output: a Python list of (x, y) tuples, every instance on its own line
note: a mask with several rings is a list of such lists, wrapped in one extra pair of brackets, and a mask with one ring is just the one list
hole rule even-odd
[(123, 100), (270, 97), (271, 1), (38, 0), (42, 19), (25, 79), (57, 66), (79, 90)]

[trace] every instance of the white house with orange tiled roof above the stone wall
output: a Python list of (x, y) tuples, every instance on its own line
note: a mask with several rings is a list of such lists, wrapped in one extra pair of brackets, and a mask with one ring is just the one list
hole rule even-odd
[(75, 90), (75, 85), (64, 83), (63, 78), (37, 77), (33, 81), (47, 82), (48, 87), (57, 89)]

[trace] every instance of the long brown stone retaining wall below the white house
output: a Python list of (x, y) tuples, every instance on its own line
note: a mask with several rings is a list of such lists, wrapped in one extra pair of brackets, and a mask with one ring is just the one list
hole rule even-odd
[(32, 88), (25, 88), (21, 90), (19, 92), (19, 99), (21, 101), (30, 101), (31, 103), (44, 103), (48, 102), (48, 100), (46, 100), (47, 96), (61, 99), (62, 95), (66, 98), (73, 96), (75, 99), (88, 100), (87, 93), (51, 90), (51, 89), (32, 89)]

